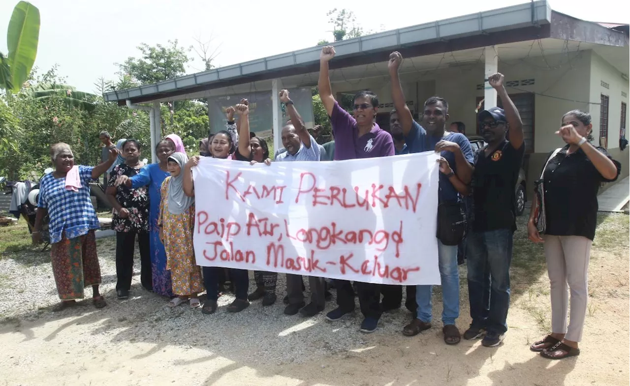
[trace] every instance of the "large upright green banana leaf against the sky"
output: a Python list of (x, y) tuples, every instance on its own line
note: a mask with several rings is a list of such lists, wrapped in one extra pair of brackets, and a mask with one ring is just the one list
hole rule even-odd
[(0, 89), (18, 93), (35, 63), (39, 41), (39, 9), (20, 1), (13, 9), (6, 34), (8, 55), (0, 52)]

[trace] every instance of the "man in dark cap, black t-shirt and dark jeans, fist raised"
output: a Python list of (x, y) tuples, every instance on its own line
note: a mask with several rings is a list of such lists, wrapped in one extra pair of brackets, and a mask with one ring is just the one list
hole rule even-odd
[[(481, 135), (488, 145), (475, 154), (474, 220), (467, 236), (468, 295), (473, 322), (464, 339), (484, 336), (486, 347), (501, 344), (510, 307), (510, 262), (516, 230), (515, 186), (523, 162), (523, 123), (503, 87), (503, 75), (488, 77), (505, 110), (479, 113)], [(510, 140), (506, 139), (506, 134)]]

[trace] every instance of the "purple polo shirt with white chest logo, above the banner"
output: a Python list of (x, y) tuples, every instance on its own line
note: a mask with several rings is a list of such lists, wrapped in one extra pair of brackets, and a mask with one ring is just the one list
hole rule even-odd
[(356, 158), (386, 157), (396, 154), (394, 140), (374, 123), (369, 133), (358, 136), (357, 120), (335, 101), (330, 116), (335, 135), (335, 161)]

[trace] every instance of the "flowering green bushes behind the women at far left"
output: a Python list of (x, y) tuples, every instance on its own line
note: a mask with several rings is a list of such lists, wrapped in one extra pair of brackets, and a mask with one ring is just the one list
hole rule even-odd
[(0, 98), (0, 135), (14, 139), (13, 146), (0, 154), (0, 175), (9, 179), (36, 179), (50, 166), (49, 147), (55, 142), (71, 145), (76, 162), (100, 162), (98, 133), (108, 130), (112, 137), (137, 138), (149, 145), (149, 117), (145, 111), (130, 111), (95, 96), (87, 111), (67, 103), (67, 97), (51, 93), (37, 98), (31, 90), (50, 84), (65, 84), (55, 68), (42, 76), (33, 74), (20, 93)]

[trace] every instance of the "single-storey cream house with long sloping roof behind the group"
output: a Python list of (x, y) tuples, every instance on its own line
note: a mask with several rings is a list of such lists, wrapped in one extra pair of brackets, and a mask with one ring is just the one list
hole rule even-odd
[[(449, 102), (451, 121), (477, 130), (479, 106), (495, 106), (488, 75), (505, 74), (508, 93), (522, 116), (527, 154), (524, 169), (532, 191), (547, 154), (563, 145), (554, 132), (566, 111), (590, 111), (594, 144), (619, 160), (630, 173), (625, 136), (630, 94), (630, 25), (595, 23), (551, 9), (547, 1), (484, 11), (333, 43), (331, 82), (338, 94), (370, 89), (379, 96), (377, 122), (387, 127), (392, 110), (387, 60), (393, 50), (405, 58), (401, 82), (408, 105), (418, 113), (438, 95)], [(284, 111), (278, 91), (288, 88), (306, 121), (312, 122), (311, 88), (316, 86), (321, 47), (251, 60), (159, 82), (106, 93), (107, 101), (132, 108), (137, 103), (209, 99), (210, 123), (221, 130), (222, 108), (241, 97), (255, 99), (255, 130), (273, 129), (280, 147)], [(295, 100), (295, 99), (294, 99)], [(146, 108), (142, 106), (142, 108)], [(256, 112), (258, 111), (258, 113)], [(159, 121), (159, 109), (151, 111)], [(159, 137), (159, 125), (152, 133)], [(621, 180), (620, 178), (620, 180)]]

